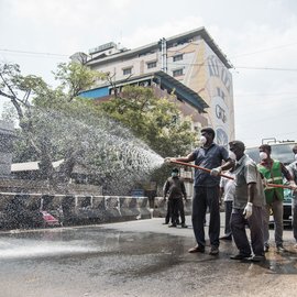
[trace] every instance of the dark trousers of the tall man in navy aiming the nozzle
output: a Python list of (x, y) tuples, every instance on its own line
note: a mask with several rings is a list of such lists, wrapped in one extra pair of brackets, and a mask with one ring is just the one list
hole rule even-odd
[(193, 198), (191, 223), (194, 234), (198, 245), (206, 245), (205, 239), (205, 219), (207, 207), (209, 208), (209, 240), (213, 246), (219, 246), (220, 235), (220, 206), (219, 206), (219, 186), (215, 187), (195, 187)]

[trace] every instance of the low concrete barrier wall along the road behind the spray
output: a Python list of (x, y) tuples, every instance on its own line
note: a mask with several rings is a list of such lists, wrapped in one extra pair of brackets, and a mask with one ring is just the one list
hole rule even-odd
[(44, 227), (41, 210), (63, 226), (150, 219), (147, 197), (0, 194), (0, 229)]

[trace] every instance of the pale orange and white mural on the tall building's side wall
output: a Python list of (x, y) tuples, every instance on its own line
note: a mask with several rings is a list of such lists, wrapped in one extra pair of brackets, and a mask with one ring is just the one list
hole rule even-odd
[[(185, 65), (183, 82), (209, 105), (208, 124), (216, 131), (216, 142), (228, 146), (234, 139), (234, 108), (232, 76), (229, 69), (204, 42), (197, 41), (190, 62)], [(183, 52), (189, 52), (185, 51)], [(188, 48), (189, 50), (189, 48)]]

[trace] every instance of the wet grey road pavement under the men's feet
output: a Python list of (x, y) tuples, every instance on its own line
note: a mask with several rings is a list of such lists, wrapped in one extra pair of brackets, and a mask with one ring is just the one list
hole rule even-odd
[(229, 241), (218, 256), (189, 254), (191, 227), (163, 221), (0, 232), (0, 297), (296, 296), (292, 230), (287, 252), (272, 248), (258, 264), (230, 260)]

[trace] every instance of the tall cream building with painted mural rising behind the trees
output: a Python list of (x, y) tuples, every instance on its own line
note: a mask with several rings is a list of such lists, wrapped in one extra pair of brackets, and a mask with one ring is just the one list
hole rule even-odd
[[(189, 101), (199, 100), (200, 105), (204, 101), (202, 109), (191, 105), (191, 112), (199, 114), (194, 118), (200, 119), (200, 125), (216, 130), (217, 143), (227, 145), (234, 139), (233, 87), (229, 70), (232, 65), (205, 28), (162, 37), (134, 50), (110, 42), (90, 50), (89, 55), (78, 53), (73, 56), (77, 57), (91, 69), (106, 73), (113, 81), (122, 84), (165, 73), (168, 81), (172, 77), (172, 84), (176, 81), (179, 87), (193, 91), (195, 98)], [(103, 86), (106, 81), (98, 81), (98, 89)]]

